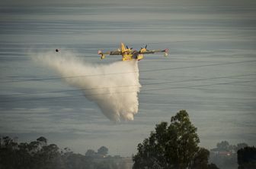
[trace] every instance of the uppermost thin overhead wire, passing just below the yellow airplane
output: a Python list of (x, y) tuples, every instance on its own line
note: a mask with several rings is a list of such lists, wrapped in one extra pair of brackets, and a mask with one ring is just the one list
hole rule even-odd
[(110, 75), (116, 75), (116, 74), (135, 74), (135, 73), (139, 73), (139, 72), (162, 71), (162, 70), (178, 70), (178, 69), (188, 69), (188, 68), (196, 68), (196, 67), (210, 67), (210, 66), (219, 66), (219, 65), (226, 65), (226, 64), (242, 64), (242, 63), (251, 63), (251, 62), (256, 62), (256, 61), (236, 61), (236, 62), (219, 63), (219, 64), (203, 64), (203, 65), (188, 66), (188, 67), (172, 67), (172, 68), (164, 68), (164, 69), (139, 70), (139, 71), (131, 71), (131, 72), (117, 72), (117, 73), (110, 73), (110, 74), (89, 74), (89, 75), (70, 76), (70, 77), (49, 77), (49, 78), (30, 79), (30, 80), (12, 80), (12, 81), (2, 81), (0, 83), (15, 83), (15, 82), (42, 81), (42, 80), (59, 80), (59, 79), (81, 78), (81, 77), (98, 77), (98, 76), (110, 76)]

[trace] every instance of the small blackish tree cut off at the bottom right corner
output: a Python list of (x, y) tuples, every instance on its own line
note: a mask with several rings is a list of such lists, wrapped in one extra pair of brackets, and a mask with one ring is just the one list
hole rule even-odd
[(238, 150), (238, 169), (256, 168), (256, 148), (245, 147)]

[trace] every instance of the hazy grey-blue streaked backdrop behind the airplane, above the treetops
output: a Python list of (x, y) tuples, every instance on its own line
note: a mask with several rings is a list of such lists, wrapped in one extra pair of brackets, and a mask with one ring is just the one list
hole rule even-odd
[[(186, 109), (200, 145), (256, 145), (255, 1), (1, 1), (0, 134), (74, 152), (107, 146), (131, 155), (155, 124)], [(139, 113), (114, 123), (83, 92), (33, 59), (63, 55), (87, 64), (98, 49), (168, 48), (139, 61)]]

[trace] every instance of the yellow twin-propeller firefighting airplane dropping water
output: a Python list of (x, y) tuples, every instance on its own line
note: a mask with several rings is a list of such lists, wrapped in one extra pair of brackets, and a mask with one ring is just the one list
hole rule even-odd
[(106, 55), (122, 55), (123, 61), (131, 61), (133, 59), (135, 60), (141, 60), (143, 58), (144, 54), (153, 54), (156, 52), (164, 52), (164, 55), (168, 55), (168, 49), (165, 50), (148, 50), (145, 48), (141, 48), (139, 51), (133, 50), (133, 48), (128, 48), (128, 46), (124, 46), (123, 43), (121, 43), (121, 49), (117, 49), (117, 51), (110, 51), (110, 52), (101, 52), (101, 50), (98, 51), (98, 55), (101, 55), (101, 59), (106, 58)]

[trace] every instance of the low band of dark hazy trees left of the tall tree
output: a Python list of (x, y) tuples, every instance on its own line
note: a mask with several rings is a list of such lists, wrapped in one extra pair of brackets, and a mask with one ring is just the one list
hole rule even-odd
[(75, 154), (69, 148), (59, 150), (56, 144), (47, 145), (43, 136), (30, 143), (14, 142), (8, 136), (0, 138), (0, 169), (117, 169), (121, 158), (103, 158), (108, 149), (101, 146), (98, 153)]

